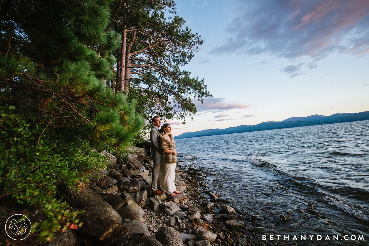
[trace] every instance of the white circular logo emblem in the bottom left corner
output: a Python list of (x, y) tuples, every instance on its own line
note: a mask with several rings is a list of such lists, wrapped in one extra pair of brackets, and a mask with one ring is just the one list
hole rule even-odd
[(5, 232), (9, 238), (23, 240), (30, 235), (31, 221), (23, 214), (14, 214), (5, 223)]

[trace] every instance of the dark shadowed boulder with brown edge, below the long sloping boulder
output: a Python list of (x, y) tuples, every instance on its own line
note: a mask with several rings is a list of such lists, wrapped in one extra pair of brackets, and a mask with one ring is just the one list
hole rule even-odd
[(128, 231), (128, 228), (120, 223), (88, 211), (77, 215), (77, 219), (83, 224), (73, 231), (79, 238), (85, 238), (92, 244), (95, 244), (96, 241), (99, 242), (97, 244), (102, 244), (102, 242), (123, 235)]

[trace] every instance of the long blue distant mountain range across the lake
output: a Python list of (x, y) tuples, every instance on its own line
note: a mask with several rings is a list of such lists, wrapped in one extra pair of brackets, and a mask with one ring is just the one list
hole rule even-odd
[(307, 117), (292, 117), (285, 119), (284, 121), (267, 121), (257, 125), (240, 125), (238, 127), (230, 127), (226, 129), (211, 129), (197, 132), (185, 132), (179, 136), (176, 136), (176, 139), (232, 134), (239, 132), (264, 131), (291, 127), (304, 127), (307, 125), (324, 125), (339, 122), (363, 121), (367, 119), (369, 119), (369, 111), (360, 113), (332, 114), (330, 116), (314, 114)]

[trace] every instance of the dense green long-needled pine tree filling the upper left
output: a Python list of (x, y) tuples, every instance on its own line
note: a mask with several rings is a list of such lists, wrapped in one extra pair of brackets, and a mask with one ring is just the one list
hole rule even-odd
[(45, 128), (82, 133), (98, 148), (124, 148), (144, 124), (114, 93), (121, 35), (108, 28), (112, 0), (1, 3), (0, 103)]

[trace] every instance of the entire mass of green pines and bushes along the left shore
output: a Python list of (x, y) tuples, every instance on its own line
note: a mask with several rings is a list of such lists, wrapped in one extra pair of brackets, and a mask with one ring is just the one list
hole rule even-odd
[(0, 1), (0, 222), (43, 207), (32, 228), (50, 240), (79, 213), (56, 201), (58, 186), (78, 189), (106, 168), (91, 146), (123, 159), (145, 118), (184, 122), (193, 98), (211, 96), (181, 69), (202, 41), (175, 10), (173, 0)]

